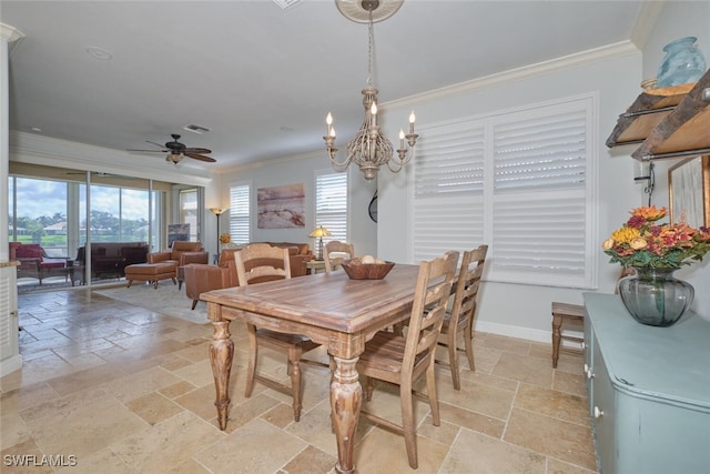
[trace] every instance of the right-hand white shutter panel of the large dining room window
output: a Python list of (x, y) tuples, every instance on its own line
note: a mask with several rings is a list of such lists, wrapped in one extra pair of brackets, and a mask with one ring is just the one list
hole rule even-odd
[(588, 119), (578, 101), (493, 120), (491, 279), (585, 285)]

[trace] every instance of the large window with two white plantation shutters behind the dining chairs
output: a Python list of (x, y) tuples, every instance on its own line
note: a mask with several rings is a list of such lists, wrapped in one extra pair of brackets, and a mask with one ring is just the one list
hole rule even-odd
[(592, 98), (427, 130), (414, 259), (488, 243), (488, 280), (594, 288)]

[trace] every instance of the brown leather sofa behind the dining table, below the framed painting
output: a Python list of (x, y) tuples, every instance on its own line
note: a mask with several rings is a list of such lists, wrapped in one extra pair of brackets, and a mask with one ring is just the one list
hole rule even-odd
[[(272, 246), (288, 249), (291, 278), (303, 276), (306, 274), (306, 263), (313, 259), (311, 245), (307, 243), (293, 242), (253, 242), (267, 243)], [(192, 309), (194, 310), (200, 301), (200, 295), (212, 290), (221, 290), (223, 288), (239, 286), (236, 278), (236, 264), (234, 262), (234, 252), (241, 251), (246, 245), (240, 245), (231, 249), (222, 249), (216, 265), (206, 264), (189, 264), (184, 266), (185, 295), (192, 300)]]

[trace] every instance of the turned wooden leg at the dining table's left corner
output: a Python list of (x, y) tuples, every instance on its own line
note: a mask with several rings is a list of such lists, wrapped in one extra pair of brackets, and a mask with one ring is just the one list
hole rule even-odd
[(214, 325), (214, 334), (210, 345), (210, 362), (212, 363), (216, 392), (214, 406), (217, 407), (220, 430), (226, 430), (230, 407), (230, 372), (232, 370), (232, 357), (234, 356), (234, 342), (230, 339), (230, 321), (213, 321), (212, 324)]

